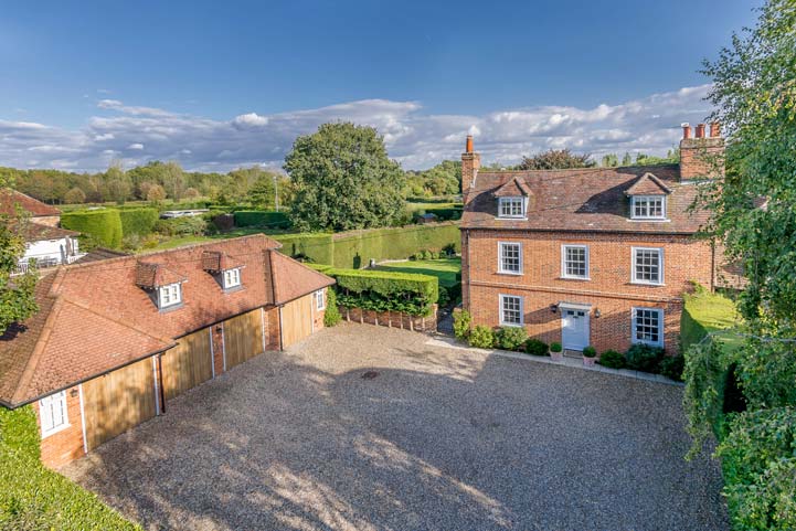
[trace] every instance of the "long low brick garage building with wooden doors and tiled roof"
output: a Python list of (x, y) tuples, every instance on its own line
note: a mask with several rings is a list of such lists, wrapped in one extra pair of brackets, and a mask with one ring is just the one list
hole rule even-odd
[(263, 235), (62, 266), (0, 337), (0, 404), (33, 404), (61, 466), (182, 392), (323, 326), (333, 279)]

